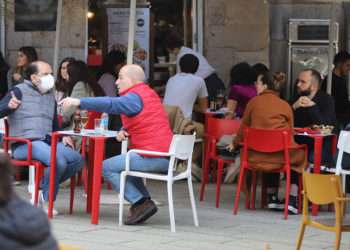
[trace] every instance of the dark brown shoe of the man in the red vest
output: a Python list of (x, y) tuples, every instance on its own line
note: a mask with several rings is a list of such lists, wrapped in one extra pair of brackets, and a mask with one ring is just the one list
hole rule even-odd
[(156, 204), (150, 199), (145, 200), (141, 204), (133, 205), (128, 217), (125, 221), (125, 225), (137, 225), (146, 221), (149, 217), (157, 212), (158, 208)]

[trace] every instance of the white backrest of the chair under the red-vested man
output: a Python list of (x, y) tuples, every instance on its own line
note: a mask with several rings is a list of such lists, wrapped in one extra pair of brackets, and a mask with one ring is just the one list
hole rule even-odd
[(191, 159), (195, 140), (195, 133), (193, 135), (174, 135), (169, 152), (180, 160)]

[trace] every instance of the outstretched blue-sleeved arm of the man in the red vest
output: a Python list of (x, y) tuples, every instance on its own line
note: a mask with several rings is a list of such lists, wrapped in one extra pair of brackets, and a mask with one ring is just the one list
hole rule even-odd
[(134, 116), (141, 112), (143, 103), (139, 95), (129, 93), (121, 97), (81, 98), (80, 108), (105, 112), (108, 114), (124, 114), (126, 116)]

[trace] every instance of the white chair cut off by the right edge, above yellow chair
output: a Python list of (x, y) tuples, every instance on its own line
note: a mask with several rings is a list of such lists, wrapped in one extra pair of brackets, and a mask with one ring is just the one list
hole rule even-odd
[(342, 130), (338, 138), (338, 157), (337, 164), (335, 167), (335, 174), (342, 175), (343, 190), (345, 192), (345, 177), (350, 175), (350, 170), (345, 170), (342, 167), (344, 152), (350, 154), (350, 131)]

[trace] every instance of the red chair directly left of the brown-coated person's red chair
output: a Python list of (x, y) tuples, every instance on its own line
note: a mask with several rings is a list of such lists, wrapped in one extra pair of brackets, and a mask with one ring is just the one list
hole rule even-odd
[(216, 207), (220, 203), (220, 186), (224, 164), (233, 163), (234, 160), (225, 160), (216, 154), (216, 143), (223, 135), (237, 133), (240, 127), (240, 120), (217, 119), (213, 117), (207, 118), (205, 130), (205, 149), (204, 149), (204, 166), (202, 169), (202, 183), (200, 189), (200, 201), (203, 200), (205, 185), (209, 179), (209, 163), (210, 160), (218, 162), (217, 181), (216, 181)]

